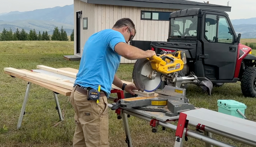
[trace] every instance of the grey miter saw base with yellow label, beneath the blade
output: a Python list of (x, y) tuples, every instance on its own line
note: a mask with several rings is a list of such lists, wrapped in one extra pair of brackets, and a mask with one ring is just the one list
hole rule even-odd
[(188, 103), (189, 100), (185, 97), (186, 89), (165, 86), (161, 90), (157, 89), (156, 94), (157, 96), (152, 97), (120, 99), (117, 103), (113, 104), (111, 109), (116, 110), (119, 107), (133, 107), (134, 109), (150, 112), (151, 114), (152, 112), (162, 112), (164, 113), (165, 118), (168, 118), (169, 120), (173, 120), (172, 117), (177, 117), (178, 113), (182, 111), (195, 109), (192, 104)]

